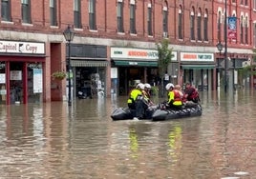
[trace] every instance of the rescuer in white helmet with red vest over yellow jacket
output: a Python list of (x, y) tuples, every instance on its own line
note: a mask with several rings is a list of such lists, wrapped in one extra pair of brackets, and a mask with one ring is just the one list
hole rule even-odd
[(172, 83), (165, 86), (168, 91), (167, 109), (182, 109), (182, 96), (178, 89), (174, 88)]

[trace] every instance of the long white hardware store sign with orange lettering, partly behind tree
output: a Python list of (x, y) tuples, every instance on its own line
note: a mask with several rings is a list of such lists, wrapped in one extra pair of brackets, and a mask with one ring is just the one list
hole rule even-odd
[[(172, 61), (177, 61), (177, 51), (172, 51)], [(129, 48), (111, 48), (111, 58), (128, 59), (159, 59), (158, 50), (143, 50)]]

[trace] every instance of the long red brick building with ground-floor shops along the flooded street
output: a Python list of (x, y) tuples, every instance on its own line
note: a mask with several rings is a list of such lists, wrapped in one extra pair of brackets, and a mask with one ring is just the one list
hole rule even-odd
[[(255, 2), (226, 0), (237, 17), (236, 39), (227, 41), (230, 83), (238, 68), (252, 59)], [(103, 89), (127, 94), (134, 80), (156, 85), (156, 43), (170, 40), (172, 63), (166, 80), (191, 81), (217, 89), (224, 76), (224, 0), (2, 0), (0, 24), (3, 104), (62, 100), (66, 81), (51, 74), (66, 70), (68, 48), (63, 31), (71, 25), (72, 93)], [(101, 83), (100, 83), (101, 82)], [(233, 83), (232, 82), (232, 83)], [(90, 92), (89, 92), (90, 91)]]

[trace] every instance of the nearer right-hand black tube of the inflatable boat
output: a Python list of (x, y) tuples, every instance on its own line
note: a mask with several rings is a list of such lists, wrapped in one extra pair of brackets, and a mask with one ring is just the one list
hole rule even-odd
[(202, 115), (200, 104), (186, 105), (183, 109), (156, 109), (152, 115), (153, 121), (164, 121), (183, 117), (193, 117)]

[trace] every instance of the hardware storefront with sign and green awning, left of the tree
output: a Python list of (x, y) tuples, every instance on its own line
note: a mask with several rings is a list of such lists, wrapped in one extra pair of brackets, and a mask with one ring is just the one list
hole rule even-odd
[(127, 95), (136, 83), (160, 82), (158, 75), (158, 51), (111, 48), (112, 92)]

